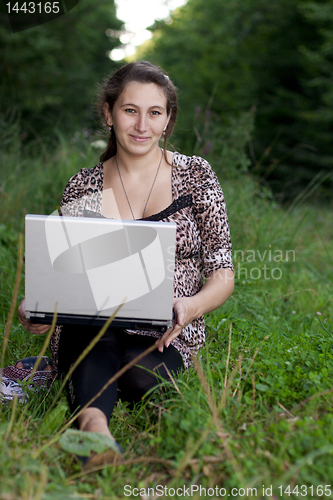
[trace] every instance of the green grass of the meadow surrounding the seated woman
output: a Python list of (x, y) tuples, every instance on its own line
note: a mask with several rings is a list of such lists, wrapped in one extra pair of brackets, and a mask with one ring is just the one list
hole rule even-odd
[[(84, 142), (65, 141), (56, 153), (44, 148), (37, 160), (7, 154), (1, 343), (24, 213), (54, 210), (68, 178), (96, 157)], [(27, 404), (2, 405), (0, 500), (184, 498), (184, 488), (197, 499), (289, 498), (292, 491), (291, 497), (333, 498), (325, 490), (333, 474), (331, 207), (312, 204), (309, 192), (281, 208), (246, 174), (220, 180), (236, 287), (208, 315), (207, 344), (195, 368), (134, 410), (119, 402), (111, 429), (125, 460), (95, 473), (83, 473), (59, 444), (70, 419), (60, 381), (46, 394), (32, 392)], [(22, 273), (19, 297), (23, 283)], [(37, 354), (43, 342), (14, 318), (5, 364)]]

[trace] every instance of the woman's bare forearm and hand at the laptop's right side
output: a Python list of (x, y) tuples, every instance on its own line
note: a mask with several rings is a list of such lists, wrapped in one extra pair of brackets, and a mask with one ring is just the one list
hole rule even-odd
[[(203, 314), (214, 311), (230, 297), (234, 289), (234, 273), (230, 269), (218, 269), (210, 273), (206, 281), (193, 297), (179, 297), (173, 301), (175, 323), (162, 337), (160, 352), (169, 347), (182, 329)], [(158, 342), (160, 339), (158, 340)]]

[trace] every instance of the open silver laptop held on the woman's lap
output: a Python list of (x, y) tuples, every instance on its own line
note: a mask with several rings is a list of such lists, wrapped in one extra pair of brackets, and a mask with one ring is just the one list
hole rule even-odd
[(25, 307), (33, 323), (166, 331), (173, 324), (176, 224), (25, 217)]

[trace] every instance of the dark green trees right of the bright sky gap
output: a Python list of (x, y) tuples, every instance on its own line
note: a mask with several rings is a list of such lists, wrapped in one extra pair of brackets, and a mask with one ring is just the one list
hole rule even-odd
[(157, 22), (138, 57), (180, 89), (177, 147), (193, 150), (197, 107), (229, 124), (255, 106), (255, 172), (293, 198), (322, 170), (330, 196), (332, 23), (332, 0), (188, 0)]

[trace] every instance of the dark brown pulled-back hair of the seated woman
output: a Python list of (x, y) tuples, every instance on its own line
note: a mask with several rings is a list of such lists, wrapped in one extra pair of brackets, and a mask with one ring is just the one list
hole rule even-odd
[[(96, 108), (99, 116), (105, 121), (103, 106), (107, 102), (109, 109), (112, 112), (113, 106), (120, 96), (120, 94), (125, 90), (126, 85), (131, 82), (139, 83), (155, 83), (160, 87), (167, 99), (167, 115), (170, 115), (170, 120), (168, 126), (163, 135), (164, 144), (164, 157), (166, 157), (166, 144), (168, 138), (172, 134), (172, 130), (175, 126), (176, 116), (177, 116), (177, 89), (170, 80), (170, 78), (165, 75), (161, 68), (154, 66), (154, 64), (148, 61), (138, 61), (122, 66), (114, 73), (112, 73), (108, 78), (104, 80), (100, 87), (99, 94), (96, 100)], [(108, 145), (104, 153), (100, 156), (100, 161), (106, 161), (117, 153), (117, 142), (116, 136), (111, 127), (111, 133), (108, 140)]]

